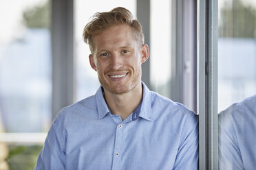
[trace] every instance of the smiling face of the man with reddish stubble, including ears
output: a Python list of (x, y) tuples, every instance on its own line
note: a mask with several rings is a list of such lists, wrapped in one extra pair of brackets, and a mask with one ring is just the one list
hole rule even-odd
[(94, 56), (89, 56), (98, 80), (110, 93), (129, 93), (140, 86), (141, 64), (149, 57), (147, 45), (138, 45), (128, 25), (116, 25), (94, 37)]

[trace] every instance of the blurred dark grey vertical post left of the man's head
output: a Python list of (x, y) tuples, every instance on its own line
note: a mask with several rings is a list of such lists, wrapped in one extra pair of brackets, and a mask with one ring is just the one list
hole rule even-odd
[(52, 119), (74, 102), (73, 5), (52, 0)]

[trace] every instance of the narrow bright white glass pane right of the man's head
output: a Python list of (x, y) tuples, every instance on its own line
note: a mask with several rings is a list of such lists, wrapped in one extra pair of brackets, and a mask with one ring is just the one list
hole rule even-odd
[(171, 1), (151, 0), (150, 3), (150, 85), (152, 90), (170, 97)]

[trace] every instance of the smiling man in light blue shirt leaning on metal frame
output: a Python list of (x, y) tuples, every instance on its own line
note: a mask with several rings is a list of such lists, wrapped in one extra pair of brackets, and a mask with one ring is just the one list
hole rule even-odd
[(83, 36), (101, 86), (58, 113), (35, 169), (198, 169), (197, 116), (141, 82), (149, 47), (131, 12), (96, 13)]

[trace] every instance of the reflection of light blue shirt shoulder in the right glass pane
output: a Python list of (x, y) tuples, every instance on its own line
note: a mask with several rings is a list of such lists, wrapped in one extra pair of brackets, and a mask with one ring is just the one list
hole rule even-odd
[(256, 95), (219, 114), (220, 169), (256, 169)]

